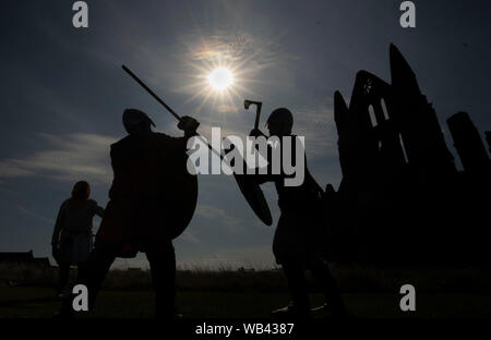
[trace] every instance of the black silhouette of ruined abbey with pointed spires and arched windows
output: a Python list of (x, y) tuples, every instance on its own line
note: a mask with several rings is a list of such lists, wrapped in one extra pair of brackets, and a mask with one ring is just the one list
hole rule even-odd
[(464, 168), (458, 171), (434, 109), (394, 45), (390, 60), (391, 84), (360, 71), (349, 107), (335, 94), (343, 180), (327, 218), (332, 257), (398, 264), (491, 258), (490, 159), (478, 130), (466, 112), (447, 119)]

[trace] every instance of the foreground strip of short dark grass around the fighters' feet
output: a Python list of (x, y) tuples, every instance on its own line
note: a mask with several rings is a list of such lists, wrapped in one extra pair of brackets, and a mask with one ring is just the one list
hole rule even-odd
[[(360, 318), (453, 318), (491, 317), (491, 295), (418, 294), (417, 311), (400, 312), (398, 294), (344, 294), (350, 314)], [(268, 318), (270, 312), (288, 301), (287, 293), (180, 292), (180, 312), (189, 318)], [(60, 306), (49, 288), (13, 287), (0, 289), (0, 317), (49, 318)], [(312, 304), (322, 295), (312, 294)], [(154, 315), (153, 291), (105, 290), (87, 318), (149, 318)], [(315, 317), (330, 317), (319, 313)]]

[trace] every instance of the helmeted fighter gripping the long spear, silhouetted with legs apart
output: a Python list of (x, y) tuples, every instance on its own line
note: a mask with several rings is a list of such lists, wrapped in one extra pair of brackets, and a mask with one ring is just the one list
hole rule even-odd
[[(180, 212), (172, 201), (183, 190), (179, 185), (190, 179), (185, 168), (187, 142), (195, 135), (199, 123), (182, 117), (178, 127), (184, 131), (184, 136), (171, 137), (153, 132), (151, 125), (155, 124), (146, 113), (127, 109), (123, 124), (129, 135), (111, 145), (115, 177), (110, 202), (87, 271), (80, 276), (79, 282), (87, 287), (92, 308), (116, 257), (133, 257), (139, 251), (144, 252), (152, 271), (156, 316), (172, 318), (177, 314), (171, 229)], [(70, 308), (65, 305), (64, 312), (71, 313)]]

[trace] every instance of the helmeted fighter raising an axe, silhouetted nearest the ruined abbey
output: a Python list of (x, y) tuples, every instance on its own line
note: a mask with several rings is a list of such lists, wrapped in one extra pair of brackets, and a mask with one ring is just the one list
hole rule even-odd
[[(291, 159), (295, 160), (295, 143), (299, 142), (291, 135), (294, 125), (291, 112), (285, 108), (274, 110), (267, 119), (266, 125), (271, 136), (277, 136), (280, 141), (283, 136), (291, 136)], [(260, 136), (264, 134), (259, 130), (253, 130), (251, 135)], [(279, 147), (283, 147), (282, 143)], [(282, 215), (273, 241), (273, 253), (276, 262), (283, 267), (291, 295), (291, 302), (287, 307), (273, 311), (272, 314), (275, 317), (302, 318), (310, 316), (310, 303), (304, 277), (304, 271), (309, 269), (322, 286), (327, 302), (326, 306), (333, 312), (333, 315), (345, 315), (346, 311), (342, 296), (323, 256), (326, 233), (321, 217), (322, 189), (310, 174), (307, 161), (303, 183), (299, 186), (286, 186), (285, 178), (295, 174), (287, 175), (283, 172), (272, 174), (271, 148), (267, 159), (270, 160), (267, 174), (256, 174), (256, 177), (260, 184), (274, 182), (278, 193), (278, 206)]]

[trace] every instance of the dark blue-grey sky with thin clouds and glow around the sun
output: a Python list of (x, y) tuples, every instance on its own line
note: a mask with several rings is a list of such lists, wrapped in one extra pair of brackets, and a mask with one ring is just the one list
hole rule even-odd
[[(112, 180), (110, 144), (124, 137), (125, 108), (139, 108), (156, 131), (182, 135), (176, 120), (122, 70), (128, 65), (200, 132), (246, 135), (263, 102), (294, 112), (311, 173), (325, 186), (342, 180), (333, 97), (349, 101), (367, 70), (390, 82), (395, 44), (445, 120), (467, 111), (483, 137), (491, 130), (491, 5), (487, 1), (415, 1), (416, 28), (399, 25), (402, 1), (127, 1), (93, 0), (88, 27), (74, 28), (74, 1), (2, 0), (0, 68), (0, 252), (50, 255), (60, 204), (86, 180), (105, 206)], [(229, 68), (235, 82), (214, 92), (206, 76)], [(458, 157), (456, 157), (458, 165)], [(271, 268), (277, 196), (263, 190), (274, 226), (264, 226), (225, 174), (199, 175), (194, 217), (175, 241), (181, 268)], [(97, 227), (99, 219), (95, 218)], [(51, 259), (51, 263), (52, 259)], [(147, 267), (144, 256), (116, 267)]]

